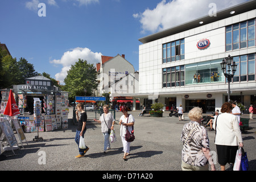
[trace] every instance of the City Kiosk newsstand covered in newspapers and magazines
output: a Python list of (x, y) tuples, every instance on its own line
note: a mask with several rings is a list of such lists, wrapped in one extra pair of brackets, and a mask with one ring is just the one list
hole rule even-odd
[[(26, 78), (25, 84), (13, 85), (13, 91), (20, 110), (18, 119), (25, 133), (68, 128), (68, 93), (60, 91), (49, 78)], [(35, 98), (40, 101), (40, 119), (35, 113)]]

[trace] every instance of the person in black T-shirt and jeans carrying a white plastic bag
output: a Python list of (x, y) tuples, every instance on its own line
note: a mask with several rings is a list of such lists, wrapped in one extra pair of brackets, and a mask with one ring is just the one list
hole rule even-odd
[[(79, 112), (81, 112), (79, 116)], [(80, 136), (84, 138), (84, 134), (86, 131), (86, 121), (87, 121), (87, 114), (84, 111), (84, 104), (77, 104), (77, 111), (76, 111), (76, 118), (77, 118), (77, 129), (76, 129), (76, 137), (75, 142), (79, 146), (80, 142)], [(85, 153), (89, 150), (89, 147), (86, 146), (85, 149), (79, 148), (79, 155), (77, 155), (75, 158), (82, 158), (84, 157)]]

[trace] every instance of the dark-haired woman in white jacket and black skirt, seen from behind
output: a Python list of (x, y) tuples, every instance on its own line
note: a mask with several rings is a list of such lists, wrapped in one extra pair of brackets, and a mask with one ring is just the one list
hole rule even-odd
[(225, 171), (226, 163), (234, 164), (238, 146), (243, 147), (243, 140), (236, 115), (230, 114), (232, 104), (225, 102), (221, 106), (221, 113), (213, 122), (216, 131), (215, 144), (218, 163), (221, 171)]

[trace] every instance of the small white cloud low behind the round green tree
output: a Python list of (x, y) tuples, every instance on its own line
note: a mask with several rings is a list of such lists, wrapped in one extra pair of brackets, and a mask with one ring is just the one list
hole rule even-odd
[(67, 71), (71, 68), (71, 65), (75, 65), (79, 59), (82, 59), (88, 61), (90, 64), (94, 64), (96, 67), (96, 64), (101, 62), (101, 56), (101, 53), (92, 52), (88, 48), (77, 47), (71, 49), (71, 51), (64, 52), (61, 59), (54, 59), (50, 60), (49, 62), (63, 66), (61, 72), (55, 75), (55, 79), (59, 80), (61, 84), (64, 84), (64, 78), (67, 76)]

